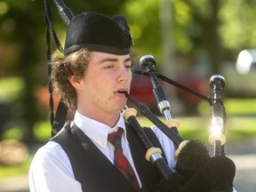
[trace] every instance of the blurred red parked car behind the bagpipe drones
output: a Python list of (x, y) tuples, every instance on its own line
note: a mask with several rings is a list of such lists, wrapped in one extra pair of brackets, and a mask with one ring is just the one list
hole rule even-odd
[[(196, 92), (203, 94), (208, 92), (208, 80), (204, 76), (179, 76), (175, 81), (189, 87), (190, 89), (195, 90)], [(174, 88), (171, 84), (161, 82), (161, 80), (160, 83), (164, 86), (165, 91), (172, 87), (172, 92), (175, 92), (181, 105), (183, 105), (185, 108), (185, 114), (191, 115), (196, 113), (196, 107), (199, 102), (202, 101), (201, 99), (188, 92)], [(158, 112), (156, 100), (153, 95), (153, 87), (147, 76), (140, 76), (136, 74), (132, 76), (130, 94), (141, 104), (148, 106), (148, 108), (156, 113)], [(172, 106), (172, 100), (169, 101)], [(134, 105), (132, 105), (129, 100), (127, 104), (129, 107), (134, 107)]]

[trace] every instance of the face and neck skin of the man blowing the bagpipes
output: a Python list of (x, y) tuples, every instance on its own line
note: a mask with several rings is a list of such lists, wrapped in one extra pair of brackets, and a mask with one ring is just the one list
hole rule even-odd
[[(89, 64), (80, 80), (77, 92), (78, 110), (86, 113), (113, 114), (123, 109), (124, 93), (129, 92), (132, 80), (132, 60), (129, 54), (114, 55), (92, 52)], [(77, 90), (76, 90), (77, 91)]]

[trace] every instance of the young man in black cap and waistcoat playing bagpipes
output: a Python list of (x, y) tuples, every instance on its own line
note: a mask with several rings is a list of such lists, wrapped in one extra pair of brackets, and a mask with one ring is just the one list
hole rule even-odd
[[(30, 191), (155, 190), (162, 176), (146, 161), (146, 150), (120, 114), (126, 103), (122, 92), (130, 91), (132, 80), (131, 46), (123, 16), (83, 12), (71, 20), (64, 57), (52, 58), (51, 80), (75, 112), (74, 121), (36, 152)], [(172, 141), (156, 127), (152, 130), (174, 168)], [(117, 138), (113, 132), (121, 135), (121, 147), (111, 140)]]

